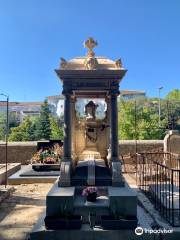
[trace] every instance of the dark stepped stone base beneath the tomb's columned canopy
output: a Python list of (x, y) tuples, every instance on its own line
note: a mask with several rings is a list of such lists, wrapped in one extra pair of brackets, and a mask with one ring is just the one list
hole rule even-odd
[[(90, 228), (89, 213), (95, 213), (98, 217), (115, 212), (123, 216), (137, 216), (136, 193), (125, 184), (124, 187), (102, 187), (104, 196), (94, 203), (89, 203), (78, 193), (75, 187), (58, 187), (54, 184), (46, 198), (46, 216), (56, 216), (66, 205), (68, 212), (83, 216), (83, 224), (80, 230), (47, 230), (44, 226), (44, 216), (30, 234), (30, 240), (135, 240), (139, 239), (133, 230), (104, 230), (99, 226)], [(102, 194), (103, 195), (103, 194)], [(99, 223), (99, 224), (98, 224)], [(97, 221), (97, 225), (100, 222)]]

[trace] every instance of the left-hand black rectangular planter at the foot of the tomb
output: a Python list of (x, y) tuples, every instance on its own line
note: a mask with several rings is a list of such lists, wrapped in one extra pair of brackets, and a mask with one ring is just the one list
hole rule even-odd
[(51, 230), (80, 229), (82, 216), (71, 214), (67, 209), (67, 205), (64, 205), (57, 216), (46, 216), (44, 222), (46, 228)]

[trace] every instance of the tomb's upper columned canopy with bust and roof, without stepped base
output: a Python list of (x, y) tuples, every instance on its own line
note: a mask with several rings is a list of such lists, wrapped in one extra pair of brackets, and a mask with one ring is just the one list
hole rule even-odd
[[(126, 73), (120, 60), (116, 62), (105, 57), (95, 57), (93, 48), (97, 43), (88, 39), (85, 46), (87, 56), (70, 61), (61, 60), (56, 70), (63, 82), (64, 109), (64, 161), (61, 163), (61, 186), (104, 184), (122, 185), (121, 163), (118, 153), (118, 109), (119, 83)], [(76, 113), (77, 99), (91, 99), (84, 107), (85, 117), (79, 119)], [(105, 117), (96, 117), (97, 104), (93, 99), (104, 100)], [(78, 175), (79, 168), (87, 166), (86, 176)], [(106, 172), (102, 182), (95, 169)], [(93, 172), (94, 170), (94, 172)], [(107, 171), (108, 170), (108, 171)], [(80, 172), (81, 173), (81, 172)], [(89, 173), (89, 174), (88, 174)], [(79, 181), (81, 180), (81, 182)]]

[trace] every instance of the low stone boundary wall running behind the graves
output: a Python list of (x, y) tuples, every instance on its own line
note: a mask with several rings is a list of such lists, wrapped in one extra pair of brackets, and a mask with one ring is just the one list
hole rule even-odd
[[(0, 142), (0, 163), (5, 162), (5, 146)], [(32, 154), (36, 152), (37, 142), (12, 142), (8, 144), (8, 162), (27, 163)], [(163, 140), (141, 140), (137, 141), (138, 152), (150, 151), (163, 148)], [(133, 154), (136, 152), (134, 140), (120, 141), (119, 151), (121, 155)]]

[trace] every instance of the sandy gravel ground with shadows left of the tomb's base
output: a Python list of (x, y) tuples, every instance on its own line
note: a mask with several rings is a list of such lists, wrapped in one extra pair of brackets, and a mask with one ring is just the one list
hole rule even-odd
[(52, 184), (22, 184), (0, 204), (0, 240), (25, 240), (45, 209)]

